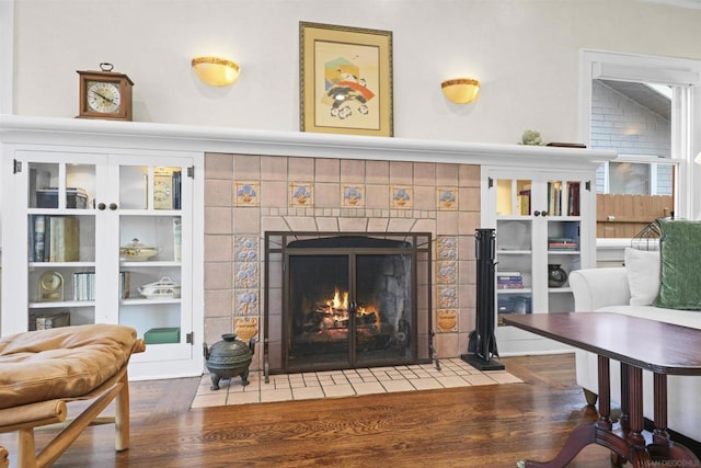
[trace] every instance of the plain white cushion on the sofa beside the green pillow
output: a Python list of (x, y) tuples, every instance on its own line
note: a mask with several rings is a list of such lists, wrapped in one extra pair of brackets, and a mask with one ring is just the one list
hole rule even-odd
[(631, 306), (650, 306), (659, 292), (659, 252), (625, 248), (625, 274)]

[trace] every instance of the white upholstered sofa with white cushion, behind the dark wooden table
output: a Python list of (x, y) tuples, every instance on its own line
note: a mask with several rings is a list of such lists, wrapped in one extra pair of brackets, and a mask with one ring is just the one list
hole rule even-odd
[[(656, 256), (655, 256), (656, 255)], [(656, 260), (655, 260), (656, 259)], [(656, 263), (655, 263), (656, 262)], [(657, 252), (627, 249), (625, 267), (578, 270), (570, 274), (575, 311), (608, 311), (701, 329), (701, 311), (663, 309), (652, 305), (659, 284)], [(655, 286), (657, 284), (657, 288)], [(619, 330), (624, 334), (625, 330)], [(659, 336), (664, 340), (664, 336)], [(701, 343), (699, 343), (701, 346)], [(577, 384), (598, 392), (597, 356), (576, 352)], [(643, 373), (645, 418), (653, 420), (653, 375)], [(669, 376), (668, 426), (694, 441), (701, 441), (701, 377)], [(620, 366), (611, 361), (611, 400), (620, 402)]]

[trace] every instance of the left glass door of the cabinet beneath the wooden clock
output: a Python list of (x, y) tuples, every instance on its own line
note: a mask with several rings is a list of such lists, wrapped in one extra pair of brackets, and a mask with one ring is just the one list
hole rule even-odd
[[(27, 207), (27, 330), (95, 322), (95, 210), (101, 155), (22, 151)], [(60, 155), (64, 156), (64, 155)]]

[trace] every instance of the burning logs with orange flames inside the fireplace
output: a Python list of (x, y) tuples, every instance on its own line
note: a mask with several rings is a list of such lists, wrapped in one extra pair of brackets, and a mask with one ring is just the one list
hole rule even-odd
[(337, 287), (333, 298), (317, 304), (310, 326), (319, 332), (347, 329), (350, 313), (355, 313), (356, 328), (380, 329), (380, 315), (375, 305), (349, 303), (348, 292), (341, 293)]

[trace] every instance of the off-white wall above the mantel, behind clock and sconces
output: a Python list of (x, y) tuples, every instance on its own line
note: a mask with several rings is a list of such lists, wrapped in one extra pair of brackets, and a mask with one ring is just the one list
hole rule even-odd
[[(18, 0), (14, 112), (72, 117), (76, 70), (113, 62), (135, 81), (135, 119), (298, 130), (299, 21), (393, 32), (394, 129), (407, 138), (577, 140), (578, 52), (701, 59), (701, 10), (635, 0)], [(241, 65), (202, 84), (197, 55)], [(483, 82), (458, 106), (446, 78)]]

